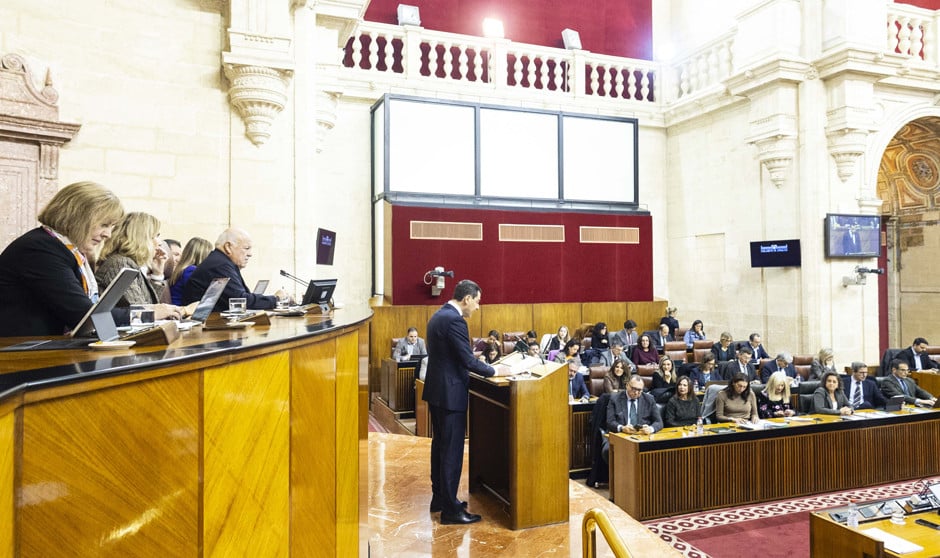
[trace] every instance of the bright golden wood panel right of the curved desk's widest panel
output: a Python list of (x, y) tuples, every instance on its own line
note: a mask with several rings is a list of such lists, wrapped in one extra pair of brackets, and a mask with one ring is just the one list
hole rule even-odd
[(290, 531), (290, 356), (204, 375), (206, 556), (286, 556)]

